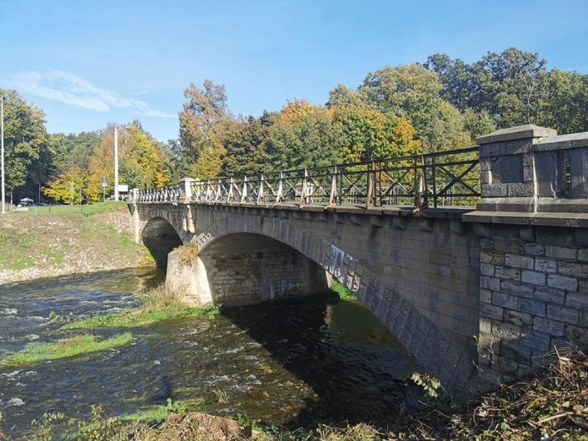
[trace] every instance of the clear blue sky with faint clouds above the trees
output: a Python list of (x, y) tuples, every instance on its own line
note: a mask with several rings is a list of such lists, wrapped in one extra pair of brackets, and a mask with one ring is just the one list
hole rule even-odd
[(50, 133), (139, 119), (167, 140), (204, 79), (258, 116), (324, 104), (384, 66), (511, 46), (588, 73), (588, 1), (0, 0), (0, 88), (43, 109)]

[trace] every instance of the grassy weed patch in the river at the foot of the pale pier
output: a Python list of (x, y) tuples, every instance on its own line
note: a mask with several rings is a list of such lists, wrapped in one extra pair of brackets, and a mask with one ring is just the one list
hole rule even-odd
[(77, 322), (61, 326), (62, 331), (72, 329), (95, 328), (137, 328), (150, 326), (164, 320), (195, 317), (197, 315), (215, 315), (219, 313), (218, 306), (204, 308), (187, 306), (168, 293), (164, 286), (158, 286), (141, 295), (141, 306), (127, 309), (120, 313), (96, 315)]

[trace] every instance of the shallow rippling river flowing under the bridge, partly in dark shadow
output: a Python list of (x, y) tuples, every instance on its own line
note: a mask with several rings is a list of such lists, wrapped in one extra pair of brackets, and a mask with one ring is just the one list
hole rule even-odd
[[(64, 337), (63, 320), (121, 311), (161, 283), (135, 269), (0, 285), (0, 355)], [(50, 313), (61, 320), (50, 320)], [(121, 330), (97, 330), (112, 335)], [(385, 422), (416, 369), (360, 302), (306, 297), (231, 308), (133, 329), (133, 344), (68, 359), (0, 367), (0, 427), (15, 438), (43, 412), (86, 418), (172, 400), (215, 415), (300, 427), (318, 421)]]

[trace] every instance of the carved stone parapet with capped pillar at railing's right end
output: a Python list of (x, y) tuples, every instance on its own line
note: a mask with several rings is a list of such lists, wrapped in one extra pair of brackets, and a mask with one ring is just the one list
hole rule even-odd
[(518, 126), (477, 140), (478, 212), (588, 213), (588, 133)]

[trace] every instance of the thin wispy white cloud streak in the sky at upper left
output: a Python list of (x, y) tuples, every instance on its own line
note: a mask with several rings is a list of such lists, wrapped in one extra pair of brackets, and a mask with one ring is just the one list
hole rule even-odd
[(173, 113), (155, 110), (145, 101), (123, 97), (100, 88), (77, 75), (57, 69), (19, 72), (6, 78), (10, 87), (69, 106), (107, 112), (111, 108), (135, 109), (148, 117), (175, 118)]

